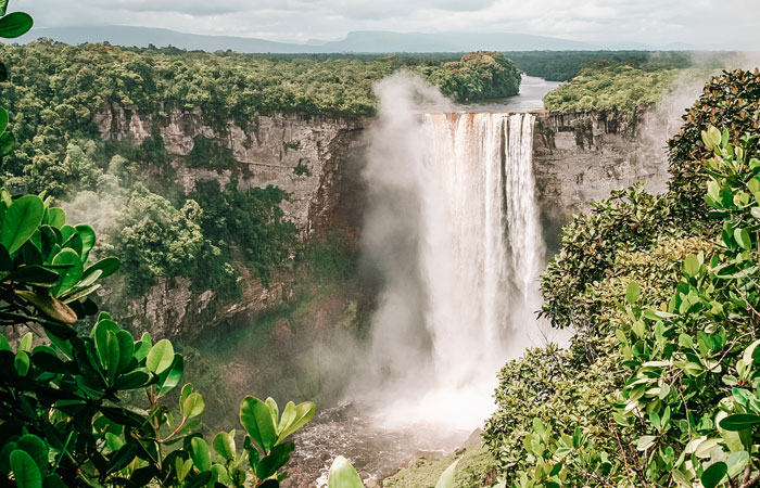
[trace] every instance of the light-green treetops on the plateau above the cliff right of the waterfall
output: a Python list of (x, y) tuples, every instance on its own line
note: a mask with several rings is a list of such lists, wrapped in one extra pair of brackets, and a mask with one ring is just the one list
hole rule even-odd
[(672, 91), (676, 76), (674, 69), (586, 68), (544, 97), (544, 105), (562, 113), (619, 110), (633, 114), (636, 107), (658, 102)]

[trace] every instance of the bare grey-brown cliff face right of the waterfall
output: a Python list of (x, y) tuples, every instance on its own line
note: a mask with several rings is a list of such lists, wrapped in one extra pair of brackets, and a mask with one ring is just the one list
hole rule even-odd
[(642, 181), (667, 188), (667, 140), (675, 131), (661, 114), (618, 112), (536, 113), (533, 168), (549, 249), (561, 226), (611, 190)]

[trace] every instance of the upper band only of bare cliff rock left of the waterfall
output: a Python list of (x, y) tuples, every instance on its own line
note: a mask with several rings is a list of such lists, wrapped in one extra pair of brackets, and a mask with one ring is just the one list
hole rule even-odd
[[(304, 234), (330, 226), (341, 203), (339, 188), (356, 184), (342, 179), (353, 175), (345, 166), (360, 152), (365, 126), (362, 119), (273, 114), (240, 127), (233, 120), (208, 120), (200, 108), (166, 106), (160, 114), (141, 114), (117, 104), (104, 106), (96, 121), (104, 140), (140, 144), (160, 136), (186, 192), (203, 180), (237, 180), (240, 190), (269, 184), (284, 190), (290, 200), (282, 209)], [(221, 168), (193, 164), (188, 156), (199, 137), (231, 151), (233, 162)]]

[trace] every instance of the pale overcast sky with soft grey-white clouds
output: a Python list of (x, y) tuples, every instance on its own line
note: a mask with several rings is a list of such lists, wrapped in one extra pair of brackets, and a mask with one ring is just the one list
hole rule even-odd
[(11, 0), (37, 27), (138, 25), (337, 40), (351, 30), (509, 31), (760, 50), (760, 0)]

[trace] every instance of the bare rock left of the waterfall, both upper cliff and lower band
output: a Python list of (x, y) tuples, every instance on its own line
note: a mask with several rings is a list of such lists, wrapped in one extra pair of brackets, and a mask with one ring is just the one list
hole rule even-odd
[[(304, 237), (335, 227), (353, 235), (359, 224), (362, 191), (354, 167), (362, 153), (362, 120), (271, 115), (241, 128), (233, 121), (210, 123), (200, 110), (166, 108), (156, 116), (114, 104), (97, 123), (104, 140), (139, 144), (161, 136), (186, 192), (204, 180), (237, 180), (240, 190), (271, 184), (290, 194), (282, 209)], [(198, 138), (231, 152), (233, 162), (217, 169), (193, 165), (189, 156)], [(193, 338), (225, 318), (255, 316), (293, 295), (290, 277), (274, 277), (267, 288), (244, 267), (239, 272), (243, 292), (235, 303), (224, 303), (213, 290), (193, 291), (187, 279), (169, 279), (128, 304), (121, 319), (157, 337), (181, 333)]]

